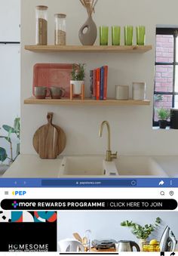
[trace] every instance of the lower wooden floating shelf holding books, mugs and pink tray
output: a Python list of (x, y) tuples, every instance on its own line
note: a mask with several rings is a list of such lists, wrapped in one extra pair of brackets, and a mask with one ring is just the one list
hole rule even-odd
[(115, 99), (108, 99), (108, 100), (91, 100), (89, 98), (86, 98), (84, 100), (81, 99), (75, 99), (75, 100), (69, 100), (69, 99), (60, 99), (60, 100), (54, 100), (51, 98), (47, 98), (44, 100), (38, 100), (35, 97), (29, 97), (28, 99), (24, 100), (25, 104), (39, 104), (39, 105), (69, 105), (69, 106), (75, 106), (75, 105), (91, 105), (91, 106), (148, 106), (150, 104), (150, 100), (115, 100)]

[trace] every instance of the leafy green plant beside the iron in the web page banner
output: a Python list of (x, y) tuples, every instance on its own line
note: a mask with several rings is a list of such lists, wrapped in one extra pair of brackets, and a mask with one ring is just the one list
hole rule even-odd
[(132, 221), (123, 221), (121, 222), (122, 227), (129, 227), (134, 236), (140, 239), (139, 245), (140, 249), (143, 248), (143, 243), (146, 242), (146, 239), (149, 238), (151, 233), (159, 226), (161, 223), (161, 218), (157, 217), (155, 224), (146, 224), (141, 226), (140, 224), (133, 223)]

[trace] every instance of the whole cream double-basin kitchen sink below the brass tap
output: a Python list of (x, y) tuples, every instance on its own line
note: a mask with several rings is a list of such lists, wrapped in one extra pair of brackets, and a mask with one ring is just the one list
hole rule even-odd
[(59, 177), (168, 177), (151, 156), (118, 156), (106, 162), (105, 156), (65, 156)]

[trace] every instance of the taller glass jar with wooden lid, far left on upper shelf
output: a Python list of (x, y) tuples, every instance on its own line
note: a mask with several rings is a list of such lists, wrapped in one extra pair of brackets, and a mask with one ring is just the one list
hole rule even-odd
[(36, 45), (48, 45), (48, 6), (36, 6)]

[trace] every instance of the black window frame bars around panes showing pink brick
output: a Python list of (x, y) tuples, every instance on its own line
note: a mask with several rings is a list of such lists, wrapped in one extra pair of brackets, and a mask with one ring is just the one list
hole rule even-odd
[[(176, 66), (178, 66), (178, 62), (176, 62), (176, 37), (178, 36), (178, 27), (177, 28), (156, 28), (156, 35), (173, 35), (173, 62), (157, 62), (156, 61), (156, 54), (155, 54), (155, 67), (156, 66), (173, 66), (173, 91), (155, 91), (155, 84), (154, 84), (154, 94), (155, 95), (172, 95), (172, 107), (174, 107), (175, 103), (175, 96), (178, 95), (178, 92), (175, 91), (175, 79), (176, 79)], [(156, 53), (156, 46), (155, 46), (155, 53)], [(155, 71), (156, 73), (156, 71)], [(153, 99), (153, 115), (152, 115), (152, 126), (158, 126), (158, 121), (155, 122), (155, 101)], [(170, 122), (168, 122), (170, 125)]]

